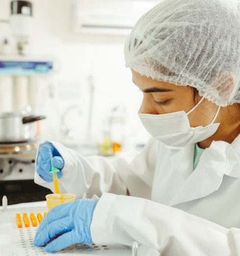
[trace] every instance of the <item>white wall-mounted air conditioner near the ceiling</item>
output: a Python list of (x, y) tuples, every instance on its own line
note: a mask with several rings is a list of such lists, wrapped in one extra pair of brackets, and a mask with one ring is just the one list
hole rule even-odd
[(73, 30), (128, 34), (137, 20), (160, 0), (74, 0)]

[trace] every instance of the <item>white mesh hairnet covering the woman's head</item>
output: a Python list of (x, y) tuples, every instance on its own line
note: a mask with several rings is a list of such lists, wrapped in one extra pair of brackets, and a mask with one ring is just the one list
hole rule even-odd
[(164, 0), (144, 14), (124, 48), (143, 76), (195, 87), (226, 106), (240, 102), (240, 5), (237, 0)]

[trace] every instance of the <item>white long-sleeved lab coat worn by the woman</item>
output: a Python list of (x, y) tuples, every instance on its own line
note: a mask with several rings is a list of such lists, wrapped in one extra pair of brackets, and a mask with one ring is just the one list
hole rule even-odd
[[(61, 190), (101, 196), (95, 243), (136, 240), (161, 256), (240, 256), (240, 136), (232, 144), (214, 141), (194, 171), (194, 145), (169, 148), (152, 138), (128, 163), (51, 143), (65, 160)], [(35, 182), (53, 189), (37, 174)]]

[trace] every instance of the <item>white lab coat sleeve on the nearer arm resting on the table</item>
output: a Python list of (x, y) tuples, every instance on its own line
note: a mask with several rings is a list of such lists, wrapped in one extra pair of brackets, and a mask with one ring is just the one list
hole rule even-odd
[(137, 241), (161, 256), (240, 256), (239, 229), (146, 199), (108, 193), (96, 205), (91, 235), (96, 244)]

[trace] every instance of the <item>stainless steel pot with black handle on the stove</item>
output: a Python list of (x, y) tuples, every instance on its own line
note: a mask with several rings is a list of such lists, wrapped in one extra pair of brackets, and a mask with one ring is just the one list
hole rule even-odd
[(14, 143), (34, 140), (36, 121), (44, 116), (25, 116), (19, 113), (0, 114), (0, 143)]

